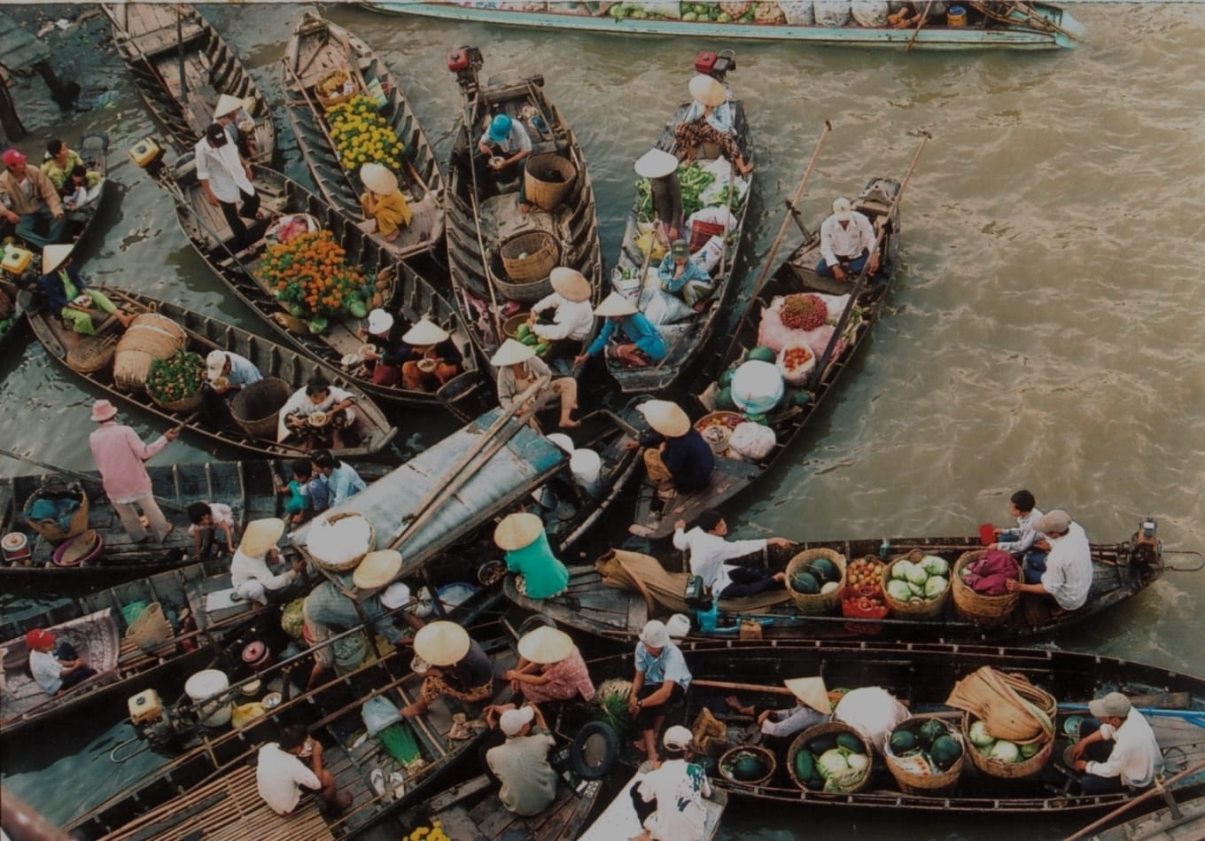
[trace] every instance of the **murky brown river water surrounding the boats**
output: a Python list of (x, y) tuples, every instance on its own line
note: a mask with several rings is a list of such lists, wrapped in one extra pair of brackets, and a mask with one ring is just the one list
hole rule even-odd
[[(737, 536), (970, 534), (981, 522), (1006, 523), (1010, 493), (1027, 487), (1094, 540), (1124, 540), (1152, 516), (1166, 548), (1205, 547), (1205, 5), (1071, 8), (1088, 42), (1059, 53), (736, 45), (729, 81), (752, 125), (759, 193), (739, 271), (745, 288), (825, 119), (833, 131), (800, 202), (812, 227), (869, 176), (903, 178), (918, 133), (933, 135), (906, 186), (889, 308), (789, 464), (729, 511)], [(278, 102), (278, 59), (301, 7), (204, 10)], [(383, 54), (441, 159), (459, 108), (447, 49), (480, 46), (487, 76), (542, 72), (584, 148), (609, 254), (631, 201), (631, 161), (686, 96), (695, 52), (730, 46), (424, 22), (353, 6), (327, 13)], [(83, 249), (87, 274), (254, 327), (194, 254), (167, 198), (127, 158), (140, 137), (163, 133), (120, 61), (110, 54), (89, 72), (89, 83), (117, 92), (108, 107), (69, 118), (53, 105), (22, 110), (33, 134), (27, 152), (54, 135), (110, 134), (113, 183)], [(36, 99), (29, 86), (41, 82), (23, 84), (22, 101)], [(276, 116), (287, 170), (304, 177), (287, 118)], [(797, 241), (792, 229), (783, 253)], [(0, 360), (0, 377), (4, 446), (90, 469), (87, 412), (100, 395), (36, 342)], [(145, 436), (155, 431), (146, 417), (127, 420)], [(400, 420), (402, 452), (452, 429), (437, 413)], [(154, 461), (210, 458), (236, 454), (186, 435)], [(0, 459), (0, 474), (23, 471)], [(0, 604), (35, 595), (6, 594)], [(1203, 633), (1205, 574), (1169, 572), (1106, 622), (1047, 645), (1203, 675)], [(124, 704), (114, 704), (6, 745), (5, 784), (53, 819), (83, 811), (159, 761), (108, 761), (133, 734), (111, 724), (122, 719)], [(737, 806), (722, 836), (1057, 839), (1074, 825)]]

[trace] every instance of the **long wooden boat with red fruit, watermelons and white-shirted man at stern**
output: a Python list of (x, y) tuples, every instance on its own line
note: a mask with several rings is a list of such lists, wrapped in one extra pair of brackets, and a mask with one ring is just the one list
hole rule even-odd
[[(828, 324), (835, 325), (841, 308), (853, 304), (848, 320), (842, 329), (841, 340), (829, 355), (822, 376), (810, 377), (803, 387), (788, 388), (778, 406), (770, 412), (768, 425), (775, 433), (775, 445), (769, 455), (759, 461), (748, 461), (735, 457), (730, 451), (724, 451), (716, 458), (716, 472), (707, 487), (689, 494), (677, 494), (665, 500), (664, 504), (663, 500), (657, 499), (656, 488), (645, 483), (640, 488), (636, 513), (630, 527), (634, 535), (654, 540), (668, 537), (674, 533), (675, 521), (684, 519), (693, 523), (701, 511), (719, 507), (752, 484), (800, 436), (809, 420), (816, 414), (817, 408), (845, 374), (854, 354), (866, 343), (870, 327), (882, 312), (883, 299), (890, 289), (897, 267), (900, 220), (899, 207), (898, 205), (893, 207), (893, 199), (899, 189), (899, 183), (890, 178), (871, 178), (862, 194), (853, 201), (854, 210), (870, 219), (876, 234), (882, 234), (878, 274), (863, 287), (857, 301), (851, 300), (853, 292), (851, 283), (825, 280), (816, 275), (815, 266), (821, 259), (819, 225), (817, 225), (806, 241), (775, 269), (762, 289), (750, 300), (748, 308), (734, 328), (731, 341), (727, 343), (727, 347), (721, 349), (716, 358), (706, 359), (698, 366), (701, 376), (689, 387), (695, 398), (693, 416), (696, 418), (696, 428), (719, 423), (722, 418), (743, 419), (733, 413), (727, 416), (713, 413), (717, 408), (730, 408), (717, 404), (721, 389), (716, 371), (731, 370), (745, 360), (746, 354), (752, 348), (764, 346), (766, 341), (783, 341), (781, 322), (778, 323), (777, 337), (768, 339), (763, 329), (765, 311), (776, 311), (781, 299), (787, 295), (818, 293), (829, 296), (827, 299)], [(777, 319), (774, 318), (774, 320)], [(821, 337), (824, 335), (823, 330), (824, 328), (821, 328), (817, 331)], [(822, 359), (824, 342), (810, 342), (810, 345), (815, 358)], [(772, 347), (771, 349), (777, 352), (781, 348)], [(703, 416), (706, 416), (706, 419)]]

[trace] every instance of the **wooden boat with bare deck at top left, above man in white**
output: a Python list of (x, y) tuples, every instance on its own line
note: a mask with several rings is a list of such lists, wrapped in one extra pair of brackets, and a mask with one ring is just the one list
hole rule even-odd
[(276, 155), (272, 108), (239, 55), (192, 4), (101, 4), (113, 43), (139, 93), (181, 149), (192, 149), (213, 122), (222, 94), (249, 100), (257, 164)]

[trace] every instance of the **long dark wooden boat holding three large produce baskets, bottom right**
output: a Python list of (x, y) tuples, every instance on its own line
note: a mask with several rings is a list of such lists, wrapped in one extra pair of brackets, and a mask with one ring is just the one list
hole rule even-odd
[[(965, 758), (953, 790), (940, 795), (910, 794), (900, 790), (882, 755), (876, 753), (866, 788), (831, 794), (798, 786), (788, 775), (784, 749), (776, 751), (777, 771), (764, 783), (739, 783), (719, 774), (711, 777), (712, 786), (733, 798), (763, 804), (766, 808), (798, 806), (845, 808), (851, 813), (895, 810), (1029, 817), (1107, 812), (1134, 795), (1129, 792), (1078, 793), (1074, 784), (1077, 775), (1063, 765), (1062, 755), (1071, 743), (1066, 735), (1071, 730), (1068, 719), (1082, 717), (1089, 700), (1109, 692), (1125, 694), (1146, 713), (1163, 752), (1166, 774), (1176, 774), (1205, 759), (1205, 729), (1200, 725), (1205, 714), (1205, 678), (1133, 660), (991, 643), (760, 640), (686, 641), (680, 647), (693, 677), (684, 710), (675, 716), (689, 724), (701, 710), (710, 710), (727, 725), (731, 746), (739, 743), (736, 736), (752, 719), (728, 712), (725, 698), (737, 693), (745, 705), (789, 708), (797, 701), (782, 687), (782, 681), (800, 676), (819, 675), (833, 689), (882, 687), (903, 701), (911, 714), (944, 713), (951, 722), (962, 722), (963, 716), (946, 702), (954, 684), (982, 666), (1027, 678), (1057, 701), (1050, 761), (1028, 778), (988, 775)], [(590, 675), (595, 681), (630, 680), (630, 652), (592, 660)], [(589, 714), (589, 710), (580, 706), (564, 710), (566, 730), (563, 731), (578, 727), (578, 716)], [(965, 749), (976, 748), (968, 746)], [(629, 751), (627, 755), (634, 758), (635, 754)]]

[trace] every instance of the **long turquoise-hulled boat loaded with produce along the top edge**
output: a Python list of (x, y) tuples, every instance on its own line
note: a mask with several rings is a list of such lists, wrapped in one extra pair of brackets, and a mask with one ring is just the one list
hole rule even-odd
[[(892, 29), (889, 27), (860, 27), (853, 20), (844, 27), (822, 27), (807, 22), (806, 18), (795, 23), (758, 23), (756, 18), (741, 16), (736, 20), (719, 22), (712, 19), (706, 11), (715, 4), (670, 4), (676, 10), (674, 17), (656, 17), (641, 12), (641, 17), (616, 14), (624, 10), (642, 8), (640, 2), (560, 2), (549, 0), (545, 4), (522, 4), (523, 8), (478, 2), (447, 2), (445, 0), (371, 0), (369, 8), (389, 14), (416, 14), (445, 20), (468, 23), (501, 24), (512, 27), (531, 27), (537, 29), (576, 30), (586, 33), (606, 33), (621, 37), (633, 35), (660, 35), (689, 37), (695, 41), (801, 41), (816, 46), (834, 47), (878, 47), (904, 49), (912, 40), (912, 29)], [(747, 4), (752, 14), (759, 7), (768, 7), (774, 19), (780, 19), (781, 7), (776, 2)], [(988, 16), (975, 11), (978, 4), (970, 6), (964, 25), (951, 27), (936, 23), (925, 24), (916, 33), (913, 49), (1060, 49), (1074, 47), (1082, 40), (1083, 27), (1065, 8), (1048, 2), (1029, 4), (986, 4), (1006, 6), (1005, 14)], [(704, 13), (686, 12), (686, 6), (704, 8)], [(806, 4), (809, 11), (811, 4)], [(666, 5), (658, 2), (658, 8)], [(772, 8), (770, 8), (772, 7)], [(618, 12), (616, 10), (619, 10)], [(695, 14), (698, 19), (687, 19)]]

